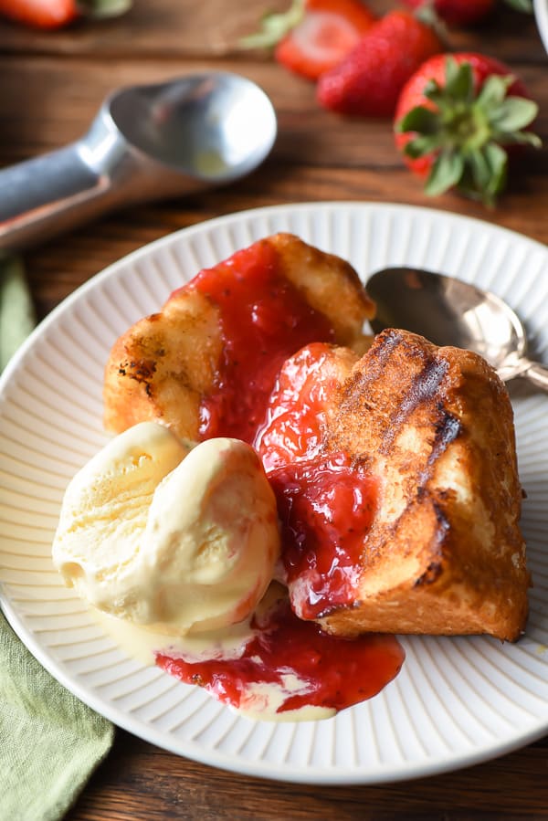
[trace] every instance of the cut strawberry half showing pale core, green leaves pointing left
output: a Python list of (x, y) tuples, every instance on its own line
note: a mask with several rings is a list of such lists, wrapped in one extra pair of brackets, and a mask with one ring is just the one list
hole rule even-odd
[(374, 24), (360, 0), (294, 0), (285, 14), (268, 15), (244, 47), (275, 47), (285, 68), (308, 79), (339, 63)]

